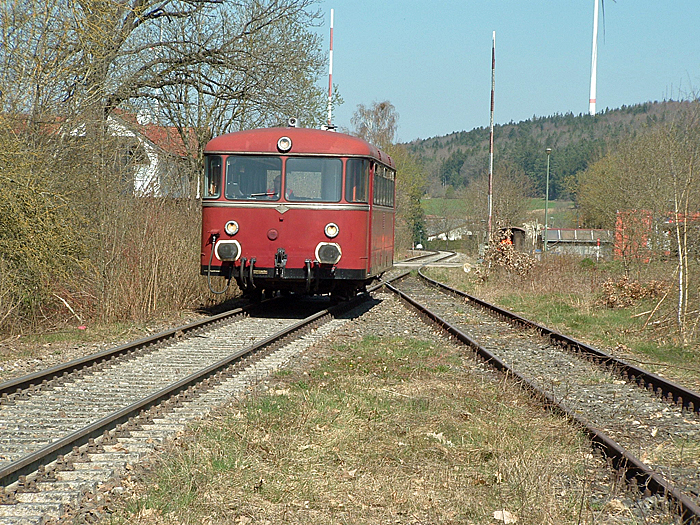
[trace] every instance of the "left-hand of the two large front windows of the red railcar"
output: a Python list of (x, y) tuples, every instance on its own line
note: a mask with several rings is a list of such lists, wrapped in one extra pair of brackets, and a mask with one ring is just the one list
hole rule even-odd
[(281, 175), (282, 159), (279, 157), (230, 155), (226, 158), (226, 198), (279, 200)]

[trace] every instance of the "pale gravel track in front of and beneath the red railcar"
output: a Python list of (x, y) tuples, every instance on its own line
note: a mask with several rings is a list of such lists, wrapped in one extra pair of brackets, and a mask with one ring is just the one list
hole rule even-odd
[(279, 298), (0, 385), (0, 523), (59, 520), (83, 494), (187, 421), (243, 395), (368, 299), (327, 308)]

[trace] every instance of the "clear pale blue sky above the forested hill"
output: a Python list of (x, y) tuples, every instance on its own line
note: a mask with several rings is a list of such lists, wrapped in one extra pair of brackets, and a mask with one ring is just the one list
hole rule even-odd
[[(398, 140), (489, 125), (496, 31), (495, 121), (588, 112), (593, 0), (321, 0), (335, 10), (333, 84), (350, 127), (358, 104), (389, 100)], [(700, 0), (605, 1), (598, 111), (700, 92)], [(325, 79), (325, 86), (328, 78)]]

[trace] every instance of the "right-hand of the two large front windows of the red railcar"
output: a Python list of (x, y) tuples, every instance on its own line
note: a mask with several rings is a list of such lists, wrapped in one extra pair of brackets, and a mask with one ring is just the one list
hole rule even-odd
[(322, 157), (291, 157), (285, 168), (288, 201), (338, 202), (342, 195), (343, 161)]

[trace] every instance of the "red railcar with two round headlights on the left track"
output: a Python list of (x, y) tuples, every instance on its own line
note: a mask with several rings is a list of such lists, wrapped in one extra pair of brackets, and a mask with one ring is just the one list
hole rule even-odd
[(202, 275), (246, 295), (347, 296), (392, 266), (396, 171), (371, 144), (267, 128), (217, 137), (204, 155)]

